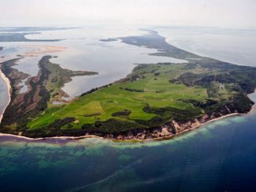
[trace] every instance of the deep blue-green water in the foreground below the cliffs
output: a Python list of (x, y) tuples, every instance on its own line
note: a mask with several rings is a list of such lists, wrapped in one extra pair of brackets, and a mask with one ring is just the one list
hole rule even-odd
[(2, 136), (0, 186), (2, 191), (251, 191), (255, 125), (254, 112), (144, 143)]

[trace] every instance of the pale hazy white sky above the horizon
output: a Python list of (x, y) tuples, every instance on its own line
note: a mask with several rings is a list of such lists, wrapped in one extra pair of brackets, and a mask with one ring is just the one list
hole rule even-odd
[(256, 0), (0, 0), (0, 26), (256, 28)]

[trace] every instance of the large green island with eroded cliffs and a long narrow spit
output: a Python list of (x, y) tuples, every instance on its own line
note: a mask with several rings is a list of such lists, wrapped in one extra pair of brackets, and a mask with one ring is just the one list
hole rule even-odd
[(16, 93), (17, 81), (26, 74), (12, 68), (15, 60), (2, 63), (12, 96), (0, 132), (31, 138), (159, 139), (251, 110), (254, 103), (247, 95), (256, 88), (256, 67), (197, 56), (170, 45), (156, 31), (147, 32), (118, 39), (158, 50), (151, 55), (188, 63), (137, 63), (123, 79), (60, 105), (52, 102), (61, 98), (64, 82), (72, 75), (94, 73), (63, 70), (49, 62), (50, 56), (44, 56), (38, 63), (38, 76), (29, 81), (29, 92), (20, 95)]

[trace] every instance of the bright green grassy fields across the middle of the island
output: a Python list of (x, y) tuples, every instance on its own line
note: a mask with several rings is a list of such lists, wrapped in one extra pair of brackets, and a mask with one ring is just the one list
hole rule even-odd
[[(150, 120), (157, 114), (147, 113), (144, 107), (174, 107), (179, 110), (194, 110), (192, 103), (182, 100), (207, 99), (207, 89), (188, 87), (181, 83), (170, 83), (171, 79), (187, 72), (185, 64), (148, 64), (139, 65), (128, 78), (135, 81), (117, 82), (82, 96), (62, 107), (49, 107), (38, 118), (27, 125), (29, 129), (42, 129), (57, 119), (75, 118), (68, 126), (81, 129), (82, 125), (94, 124), (95, 121), (107, 121), (110, 118), (119, 121)], [(195, 69), (195, 73), (204, 72)], [(126, 113), (120, 113), (126, 111)], [(129, 113), (127, 112), (129, 111)], [(119, 113), (120, 115), (113, 115)], [(203, 111), (202, 111), (203, 114)], [(167, 117), (167, 118), (172, 118)], [(66, 129), (67, 125), (63, 126)]]

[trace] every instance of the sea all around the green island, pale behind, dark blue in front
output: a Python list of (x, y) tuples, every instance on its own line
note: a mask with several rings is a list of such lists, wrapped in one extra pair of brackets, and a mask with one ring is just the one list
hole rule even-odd
[[(86, 26), (42, 31), (27, 38), (63, 38), (60, 42), (4, 42), (1, 60), (24, 59), (14, 66), (36, 75), (38, 60), (71, 70), (97, 71), (64, 85), (67, 100), (93, 87), (129, 74), (134, 63), (174, 62), (148, 56), (147, 49), (102, 38), (142, 35), (138, 26)], [(230, 63), (256, 67), (256, 31), (219, 27), (144, 27), (189, 52)], [(0, 110), (8, 94), (0, 79)], [(20, 90), (25, 92), (26, 88)], [(256, 94), (250, 95), (256, 102)], [(1, 191), (255, 191), (256, 112), (203, 125), (173, 139), (144, 142), (110, 139), (43, 139), (0, 136)]]

